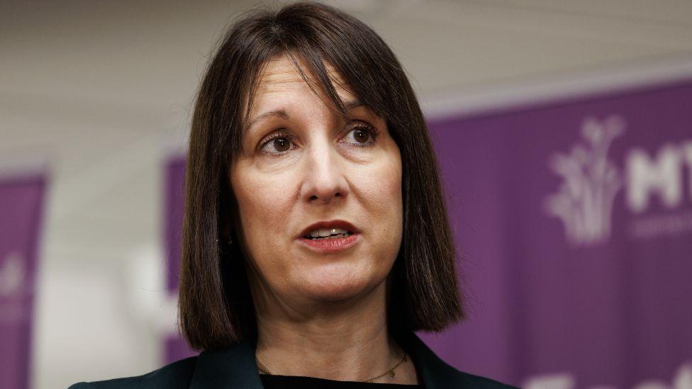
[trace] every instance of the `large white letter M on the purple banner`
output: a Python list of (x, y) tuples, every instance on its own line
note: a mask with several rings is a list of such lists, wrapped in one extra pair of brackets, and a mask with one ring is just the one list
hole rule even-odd
[(649, 205), (649, 196), (658, 193), (668, 208), (682, 201), (683, 154), (678, 147), (666, 145), (655, 160), (636, 148), (627, 156), (627, 205), (642, 213)]

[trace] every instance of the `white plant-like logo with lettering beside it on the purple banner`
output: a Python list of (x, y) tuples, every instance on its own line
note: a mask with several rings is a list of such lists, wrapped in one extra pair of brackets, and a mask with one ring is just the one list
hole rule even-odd
[[(569, 154), (555, 153), (549, 167), (562, 177), (557, 193), (548, 196), (544, 209), (562, 220), (564, 235), (573, 247), (602, 244), (610, 238), (613, 201), (623, 186), (625, 204), (635, 215), (627, 231), (635, 239), (677, 235), (692, 231), (692, 219), (684, 214), (644, 214), (653, 200), (667, 209), (683, 205), (688, 177), (688, 197), (692, 203), (692, 141), (665, 144), (653, 154), (634, 147), (625, 157), (625, 176), (608, 159), (616, 137), (625, 132), (618, 115), (605, 120), (586, 118), (579, 142)], [(653, 199), (652, 199), (653, 198)]]

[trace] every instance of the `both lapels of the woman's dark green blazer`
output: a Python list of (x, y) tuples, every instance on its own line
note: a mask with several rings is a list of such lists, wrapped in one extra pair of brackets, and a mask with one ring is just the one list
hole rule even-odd
[[(450, 388), (459, 372), (438, 358), (413, 332), (401, 339), (426, 389)], [(203, 351), (197, 357), (190, 389), (263, 389), (255, 362), (255, 344), (241, 341), (228, 349)]]

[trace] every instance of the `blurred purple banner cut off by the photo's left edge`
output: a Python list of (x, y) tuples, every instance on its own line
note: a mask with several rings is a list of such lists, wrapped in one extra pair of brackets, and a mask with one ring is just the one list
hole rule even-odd
[(0, 178), (0, 388), (29, 387), (44, 191), (43, 175)]

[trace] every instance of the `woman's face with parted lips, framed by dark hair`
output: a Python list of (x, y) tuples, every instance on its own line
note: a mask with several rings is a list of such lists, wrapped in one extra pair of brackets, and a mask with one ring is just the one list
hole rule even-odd
[(347, 120), (288, 57), (269, 61), (230, 171), (247, 252), (284, 300), (373, 291), (401, 245), (401, 154), (382, 118), (337, 91)]

